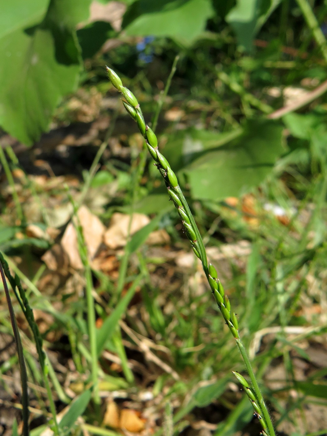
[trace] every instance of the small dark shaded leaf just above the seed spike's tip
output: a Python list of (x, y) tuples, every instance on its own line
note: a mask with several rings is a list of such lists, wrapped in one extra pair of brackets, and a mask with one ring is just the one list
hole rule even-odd
[(95, 21), (77, 31), (77, 38), (82, 50), (82, 58), (92, 58), (107, 41), (116, 35), (111, 24), (106, 21)]

